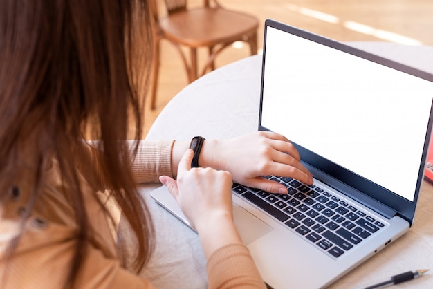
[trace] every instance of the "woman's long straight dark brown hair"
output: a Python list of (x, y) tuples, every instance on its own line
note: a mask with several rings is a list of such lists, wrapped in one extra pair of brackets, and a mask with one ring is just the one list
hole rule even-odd
[[(137, 236), (136, 270), (151, 251), (148, 211), (119, 141), (131, 127), (133, 138), (141, 137), (139, 92), (146, 91), (151, 61), (149, 14), (145, 0), (0, 0), (0, 177), (19, 174), (13, 156), (17, 148), (33, 146), (38, 163), (30, 212), (41, 193), (44, 164), (57, 159), (80, 228), (66, 280), (71, 287), (93, 234), (76, 169), (77, 161), (84, 161), (80, 139), (92, 136), (103, 144), (102, 176), (90, 183), (95, 192), (102, 180), (113, 188)], [(28, 144), (26, 137), (35, 130), (37, 141)], [(5, 194), (0, 192), (1, 200)], [(18, 242), (19, 237), (10, 243), (6, 259), (13, 257)]]

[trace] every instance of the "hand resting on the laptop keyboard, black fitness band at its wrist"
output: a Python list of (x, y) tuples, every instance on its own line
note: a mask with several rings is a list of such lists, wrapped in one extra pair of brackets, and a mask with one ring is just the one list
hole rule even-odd
[(313, 183), (297, 149), (279, 133), (256, 131), (230, 140), (205, 140), (201, 158), (205, 165), (230, 171), (234, 182), (266, 192), (287, 193), (284, 185), (263, 178), (268, 175)]

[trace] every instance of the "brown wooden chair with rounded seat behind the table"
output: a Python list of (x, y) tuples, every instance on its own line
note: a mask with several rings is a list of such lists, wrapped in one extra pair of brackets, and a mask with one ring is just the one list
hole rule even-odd
[[(154, 18), (154, 63), (151, 87), (151, 109), (155, 109), (156, 87), (160, 65), (160, 40), (167, 39), (177, 48), (189, 82), (196, 80), (206, 71), (215, 68), (214, 59), (225, 47), (235, 41), (246, 41), (251, 55), (257, 54), (256, 17), (243, 12), (223, 8), (217, 0), (203, 0), (203, 6), (188, 9), (187, 0), (165, 0), (167, 14), (160, 17), (157, 0), (151, 0)], [(212, 4), (210, 3), (212, 2)], [(190, 48), (190, 62), (181, 47)], [(199, 75), (197, 68), (197, 48), (208, 48), (209, 57)]]

